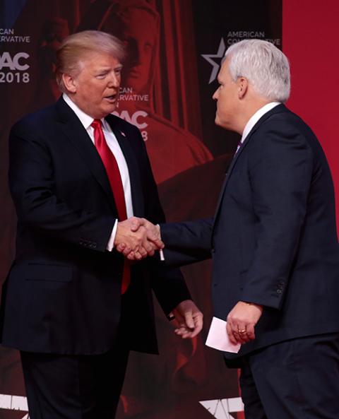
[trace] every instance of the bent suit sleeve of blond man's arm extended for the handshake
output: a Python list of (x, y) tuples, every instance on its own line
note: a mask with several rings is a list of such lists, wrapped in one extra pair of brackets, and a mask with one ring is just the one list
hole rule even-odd
[(115, 218), (70, 208), (55, 194), (52, 158), (32, 124), (10, 134), (9, 184), (18, 220), (43, 235), (104, 252)]

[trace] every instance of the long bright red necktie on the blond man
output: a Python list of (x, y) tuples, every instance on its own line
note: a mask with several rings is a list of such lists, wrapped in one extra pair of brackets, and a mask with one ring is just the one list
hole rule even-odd
[[(119, 166), (114, 154), (107, 145), (105, 135), (102, 131), (102, 124), (100, 119), (94, 119), (92, 124), (94, 129), (94, 143), (99, 153), (102, 163), (104, 163), (109, 184), (111, 185), (114, 201), (117, 206), (118, 216), (120, 221), (124, 221), (127, 218), (126, 213), (126, 202), (124, 195), (124, 187), (122, 186), (121, 175)], [(131, 271), (129, 265), (124, 261), (124, 273), (122, 276), (121, 283), (121, 294), (124, 294), (126, 289), (131, 282)]]

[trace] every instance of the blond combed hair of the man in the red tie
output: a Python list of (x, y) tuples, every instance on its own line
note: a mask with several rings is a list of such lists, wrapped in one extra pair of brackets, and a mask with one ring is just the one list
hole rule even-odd
[(91, 53), (106, 53), (118, 61), (124, 60), (124, 45), (109, 33), (100, 30), (83, 30), (66, 37), (57, 49), (55, 73), (62, 92), (66, 91), (62, 75), (76, 76), (82, 69), (82, 60)]

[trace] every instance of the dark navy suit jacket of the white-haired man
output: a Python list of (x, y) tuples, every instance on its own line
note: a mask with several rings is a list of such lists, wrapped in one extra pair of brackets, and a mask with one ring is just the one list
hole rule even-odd
[(261, 117), (234, 156), (214, 219), (161, 231), (167, 264), (213, 257), (215, 316), (226, 319), (239, 300), (264, 306), (239, 355), (339, 331), (331, 172), (311, 129), (284, 105)]

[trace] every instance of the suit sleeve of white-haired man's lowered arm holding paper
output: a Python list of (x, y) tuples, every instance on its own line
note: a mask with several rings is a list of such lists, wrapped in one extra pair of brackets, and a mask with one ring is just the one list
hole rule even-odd
[(256, 249), (241, 295), (243, 301), (277, 309), (298, 249), (314, 165), (304, 136), (281, 125), (263, 127), (249, 144), (258, 140), (249, 153)]

